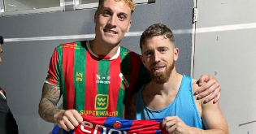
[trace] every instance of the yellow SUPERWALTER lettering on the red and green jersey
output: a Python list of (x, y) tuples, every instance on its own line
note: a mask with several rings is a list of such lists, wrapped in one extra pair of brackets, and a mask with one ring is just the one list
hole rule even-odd
[(80, 115), (115, 117), (115, 116), (118, 116), (118, 111), (80, 110)]

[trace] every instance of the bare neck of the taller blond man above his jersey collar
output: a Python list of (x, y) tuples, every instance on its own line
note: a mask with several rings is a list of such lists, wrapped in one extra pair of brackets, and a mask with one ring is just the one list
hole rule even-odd
[(98, 55), (105, 55), (108, 57), (113, 57), (117, 53), (117, 50), (119, 48), (119, 44), (108, 45), (106, 43), (96, 41), (95, 39), (93, 41), (90, 41), (89, 44), (91, 45), (93, 53)]

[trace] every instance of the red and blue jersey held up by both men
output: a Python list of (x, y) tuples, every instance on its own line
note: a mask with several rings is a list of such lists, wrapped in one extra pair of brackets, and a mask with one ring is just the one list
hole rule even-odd
[[(63, 134), (167, 134), (162, 128), (163, 119), (128, 120), (115, 117), (93, 117), (82, 115), (83, 122), (70, 132)], [(57, 134), (59, 127), (54, 128), (53, 134)]]

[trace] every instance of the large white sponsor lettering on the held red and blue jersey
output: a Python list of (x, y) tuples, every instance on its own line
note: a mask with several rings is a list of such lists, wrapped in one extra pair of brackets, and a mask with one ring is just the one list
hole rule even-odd
[[(88, 121), (83, 121), (80, 125), (80, 130), (85, 133), (97, 133), (102, 132), (102, 134), (111, 134), (118, 132), (119, 134), (127, 134), (126, 131), (116, 130), (114, 128), (106, 128), (103, 125), (90, 123)], [(133, 133), (137, 134), (137, 133)]]

